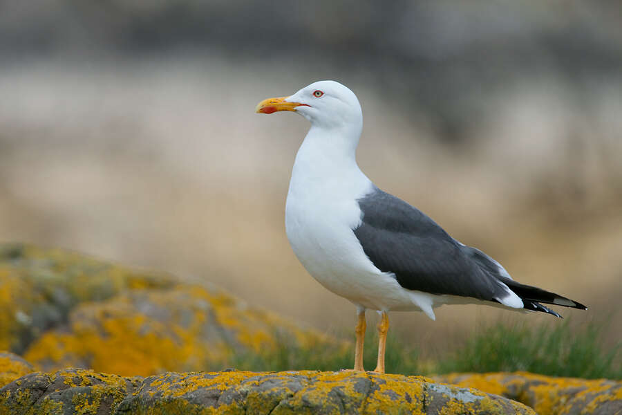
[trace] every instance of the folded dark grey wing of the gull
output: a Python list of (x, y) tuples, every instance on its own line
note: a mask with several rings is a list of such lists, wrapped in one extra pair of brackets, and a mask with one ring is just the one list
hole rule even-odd
[(358, 202), (363, 217), (355, 235), (376, 268), (394, 273), (402, 287), (490, 301), (507, 295), (495, 264), (482, 268), (473, 259), (477, 250), (455, 241), (417, 208), (379, 189)]

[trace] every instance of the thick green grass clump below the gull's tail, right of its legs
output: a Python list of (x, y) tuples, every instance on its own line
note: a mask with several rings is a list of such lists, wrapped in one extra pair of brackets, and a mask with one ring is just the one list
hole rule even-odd
[(549, 376), (622, 379), (619, 351), (602, 347), (602, 324), (572, 327), (569, 320), (530, 325), (497, 323), (480, 329), (464, 347), (438, 362), (440, 373), (530, 371)]

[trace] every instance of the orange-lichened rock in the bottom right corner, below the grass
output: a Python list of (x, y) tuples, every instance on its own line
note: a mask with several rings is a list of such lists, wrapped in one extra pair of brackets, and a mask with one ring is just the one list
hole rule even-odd
[(622, 414), (622, 382), (614, 380), (552, 378), (528, 372), (451, 374), (435, 379), (517, 400), (540, 415)]

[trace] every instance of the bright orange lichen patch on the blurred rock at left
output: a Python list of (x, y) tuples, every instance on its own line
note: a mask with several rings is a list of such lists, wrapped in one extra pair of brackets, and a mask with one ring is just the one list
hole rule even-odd
[[(86, 365), (97, 371), (122, 376), (149, 376), (180, 369), (194, 361), (198, 367), (212, 358), (222, 346), (207, 349), (192, 330), (170, 328), (145, 315), (120, 306), (95, 310), (97, 326), (76, 321), (71, 333), (49, 332), (41, 336), (26, 352), (34, 362), (51, 360), (56, 367)], [(89, 320), (91, 321), (91, 320)], [(149, 326), (149, 329), (145, 329)]]

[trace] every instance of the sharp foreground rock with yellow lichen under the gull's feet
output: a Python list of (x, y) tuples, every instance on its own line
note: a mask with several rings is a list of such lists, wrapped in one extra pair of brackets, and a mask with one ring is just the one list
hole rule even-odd
[(534, 414), (418, 376), (225, 371), (122, 378), (68, 369), (0, 389), (0, 414)]

